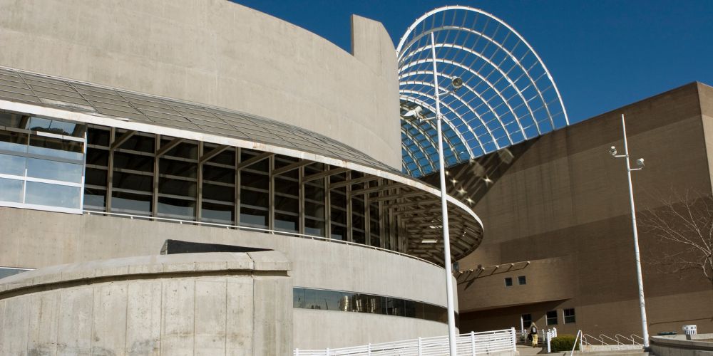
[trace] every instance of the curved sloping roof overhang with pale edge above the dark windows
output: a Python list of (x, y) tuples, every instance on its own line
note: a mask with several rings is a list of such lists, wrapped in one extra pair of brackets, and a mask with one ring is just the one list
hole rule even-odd
[[(8, 80), (10, 75), (17, 75), (17, 78), (22, 79), (22, 83)], [(34, 85), (34, 82), (38, 82), (37, 85)], [(25, 88), (22, 88), (21, 84), (24, 84)], [(46, 84), (47, 87), (42, 86), (43, 84)], [(54, 87), (50, 88), (51, 90), (47, 90), (49, 85), (54, 85)], [(266, 129), (266, 127), (279, 126), (279, 130), (298, 132), (306, 136), (295, 140), (299, 142), (286, 142), (285, 137), (268, 137), (256, 133), (256, 136), (263, 139), (259, 140), (244, 137), (247, 135), (242, 131), (247, 131), (250, 127), (243, 127), (240, 132), (242, 136), (237, 135), (235, 131), (227, 130), (227, 128), (222, 131), (222, 135), (201, 131), (200, 123), (196, 122), (198, 117), (175, 115), (171, 120), (158, 122), (152, 120), (150, 115), (108, 115), (108, 110), (103, 110), (103, 106), (106, 106), (104, 105), (106, 103), (100, 102), (98, 99), (94, 100), (92, 95), (88, 95), (88, 91), (78, 89), (78, 87), (94, 90), (92, 93), (96, 95), (105, 93), (106, 95), (116, 95), (116, 98), (130, 96), (130, 98), (143, 100), (147, 103), (161, 100), (168, 105), (176, 105), (186, 109), (186, 111), (194, 112), (195, 116), (198, 116), (198, 111), (207, 110), (207, 112), (215, 114), (217, 118), (223, 117), (222, 115), (236, 120), (239, 117), (245, 117), (245, 120), (252, 122), (256, 127)], [(61, 90), (66, 90), (67, 93), (58, 94)], [(69, 95), (71, 93), (76, 94), (76, 98)], [(111, 105), (116, 108), (117, 104), (112, 103)], [(131, 105), (130, 100), (127, 100), (127, 104)], [(134, 109), (137, 112), (142, 112), (139, 108)], [(388, 183), (384, 185), (384, 190), (388, 190), (388, 192), (384, 194), (384, 197), (379, 197), (379, 199), (383, 200), (390, 208), (393, 208), (394, 214), (401, 216), (404, 230), (409, 236), (408, 253), (428, 261), (443, 263), (440, 190), (421, 182), (419, 179), (402, 174), (385, 164), (381, 164), (381, 162), (364, 153), (329, 139), (329, 137), (255, 115), (210, 108), (205, 105), (160, 98), (153, 95), (132, 93), (91, 83), (26, 73), (10, 68), (0, 68), (0, 110), (26, 112), (31, 115), (56, 117), (93, 125), (118, 127), (125, 130), (259, 150), (275, 155), (321, 162), (342, 169), (362, 172), (371, 177), (386, 179)], [(113, 112), (116, 113), (116, 110), (113, 110)], [(180, 119), (181, 117), (183, 120)], [(222, 122), (214, 122), (214, 124), (229, 126), (231, 124), (237, 125), (237, 122), (223, 120)], [(245, 124), (245, 122), (242, 124)], [(269, 130), (267, 128), (262, 134), (270, 134)], [(292, 146), (304, 143), (305, 146), (302, 149), (286, 147), (286, 143)], [(451, 232), (451, 255), (452, 258), (457, 260), (467, 256), (480, 245), (483, 238), (483, 224), (476, 213), (466, 204), (449, 195), (446, 196), (446, 199), (448, 201), (448, 221)], [(441, 241), (441, 244), (424, 242), (424, 240)]]

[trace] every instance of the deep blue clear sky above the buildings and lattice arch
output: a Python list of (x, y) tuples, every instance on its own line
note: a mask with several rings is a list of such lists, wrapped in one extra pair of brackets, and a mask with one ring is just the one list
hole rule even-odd
[(483, 9), (509, 23), (555, 78), (571, 122), (698, 80), (713, 85), (713, 1), (237, 0), (349, 51), (349, 16), (384, 23), (398, 43), (419, 16), (444, 5)]

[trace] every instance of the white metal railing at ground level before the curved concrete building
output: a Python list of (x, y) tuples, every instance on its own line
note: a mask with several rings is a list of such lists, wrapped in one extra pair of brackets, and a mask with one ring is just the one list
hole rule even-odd
[[(516, 352), (515, 328), (466, 333), (456, 337), (458, 355), (488, 354), (494, 352)], [(294, 349), (294, 356), (436, 356), (448, 355), (448, 336), (419, 337), (413, 340), (384, 342), (355, 347), (341, 347), (325, 350)]]

